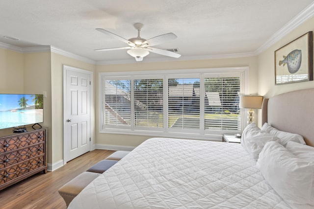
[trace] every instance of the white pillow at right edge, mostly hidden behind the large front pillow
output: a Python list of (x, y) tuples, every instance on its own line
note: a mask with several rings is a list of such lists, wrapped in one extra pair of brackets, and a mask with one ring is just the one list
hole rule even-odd
[(314, 147), (289, 141), (286, 148), (296, 157), (314, 162)]

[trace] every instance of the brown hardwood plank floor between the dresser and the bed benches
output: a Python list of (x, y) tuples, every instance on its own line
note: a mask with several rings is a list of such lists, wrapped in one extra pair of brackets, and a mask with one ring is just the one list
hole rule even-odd
[(111, 150), (93, 150), (46, 174), (40, 172), (0, 191), (1, 209), (66, 209), (58, 189), (112, 154)]

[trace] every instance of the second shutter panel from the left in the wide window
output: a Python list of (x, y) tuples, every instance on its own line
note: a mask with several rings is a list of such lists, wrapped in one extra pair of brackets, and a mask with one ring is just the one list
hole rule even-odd
[(163, 79), (134, 80), (134, 126), (163, 127)]

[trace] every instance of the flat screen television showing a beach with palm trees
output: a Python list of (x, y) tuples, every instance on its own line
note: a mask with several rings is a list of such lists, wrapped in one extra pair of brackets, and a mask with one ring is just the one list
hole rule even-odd
[(43, 94), (0, 94), (0, 129), (44, 122)]

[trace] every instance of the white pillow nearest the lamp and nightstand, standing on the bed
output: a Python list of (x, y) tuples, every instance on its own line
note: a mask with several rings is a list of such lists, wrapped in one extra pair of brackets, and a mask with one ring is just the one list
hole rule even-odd
[(242, 133), (241, 144), (244, 149), (255, 159), (259, 158), (265, 143), (268, 141), (279, 141), (278, 137), (272, 136), (262, 131), (256, 124), (250, 123)]

